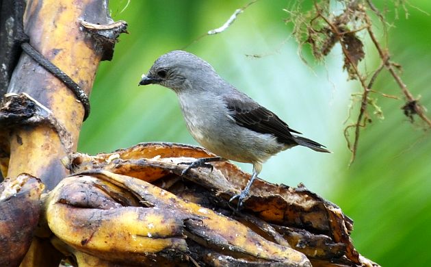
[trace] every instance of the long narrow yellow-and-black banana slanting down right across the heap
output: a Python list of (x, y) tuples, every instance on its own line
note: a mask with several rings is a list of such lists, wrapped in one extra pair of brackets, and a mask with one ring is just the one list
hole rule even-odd
[(309, 260), (302, 253), (270, 242), (236, 220), (196, 203), (183, 201), (174, 194), (153, 186), (151, 183), (107, 171), (99, 171), (93, 175), (111, 181), (118, 186), (129, 188), (143, 201), (147, 201), (155, 207), (174, 209), (177, 214), (185, 214), (188, 218), (198, 217), (198, 220), (189, 219), (185, 221), (187, 231), (193, 235), (190, 238), (200, 238), (206, 244), (217, 246), (222, 250), (243, 253), (256, 259), (283, 262), (290, 264), (290, 266), (311, 266)]

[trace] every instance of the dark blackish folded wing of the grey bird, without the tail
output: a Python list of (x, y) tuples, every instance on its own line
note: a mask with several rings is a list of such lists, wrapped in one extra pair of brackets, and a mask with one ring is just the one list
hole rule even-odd
[(289, 125), (276, 114), (262, 107), (246, 94), (229, 95), (224, 97), (224, 101), (238, 125), (259, 133), (270, 133), (276, 136), (278, 142), (298, 144), (291, 133), (300, 132), (289, 128)]

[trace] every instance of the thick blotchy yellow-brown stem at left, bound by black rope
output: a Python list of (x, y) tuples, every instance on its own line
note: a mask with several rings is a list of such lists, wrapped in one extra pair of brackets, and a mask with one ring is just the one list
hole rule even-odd
[[(13, 7), (10, 8), (11, 11), (16, 11), (18, 2), (23, 4), (23, 1), (2, 1), (2, 5), (8, 4)], [(23, 26), (25, 34), (29, 36), (29, 44), (73, 79), (87, 95), (92, 89), (99, 62), (109, 60), (112, 56), (115, 38), (114, 41), (109, 38), (119, 34), (110, 32), (113, 35), (109, 36), (108, 32), (107, 37), (102, 39), (99, 34), (106, 29), (89, 26), (112, 24), (107, 7), (107, 0), (29, 0), (25, 6)], [(12, 19), (9, 23), (18, 22)], [(27, 53), (21, 53), (10, 79), (0, 116), (1, 170), (9, 182), (0, 190), (4, 194), (3, 204), (10, 201), (5, 187), (30, 192), (25, 191), (23, 185), (25, 181), (35, 181), (25, 179), (21, 183), (16, 182), (21, 173), (38, 177), (45, 192), (52, 190), (68, 176), (69, 170), (62, 159), (77, 149), (83, 116), (83, 105), (75, 94)], [(16, 201), (17, 203), (31, 199), (34, 207), (5, 205), (3, 214), (7, 215), (8, 211), (14, 209), (14, 214), (25, 216), (26, 213), (20, 213), (19, 209), (28, 211), (32, 208), (36, 211), (32, 216), (38, 218), (40, 203), (35, 204), (34, 194), (17, 196), (22, 197), (22, 201)], [(1, 262), (2, 266), (21, 262), (23, 253), (30, 246), (31, 238), (28, 237), (34, 234), (34, 231), (26, 231), (27, 238), (23, 237), (23, 229), (19, 224), (14, 224), (15, 220), (14, 216), (0, 218), (0, 223), (10, 226), (0, 229), (0, 236), (8, 240), (6, 246), (0, 248), (1, 255), (10, 256), (8, 259), (1, 257), (5, 260)], [(37, 223), (37, 219), (31, 220), (26, 225), (27, 230), (35, 229)], [(15, 246), (20, 250), (13, 249)], [(53, 250), (44, 249), (50, 246), (49, 242), (36, 236), (22, 266), (52, 266), (58, 257), (52, 256)]]

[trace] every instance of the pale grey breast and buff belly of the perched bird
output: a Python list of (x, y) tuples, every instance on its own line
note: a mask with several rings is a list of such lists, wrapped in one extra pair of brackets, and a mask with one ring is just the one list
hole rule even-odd
[(257, 133), (237, 125), (227, 108), (220, 109), (225, 105), (221, 97), (179, 94), (179, 101), (194, 139), (216, 155), (236, 162), (257, 163), (265, 162), (284, 149), (271, 134)]

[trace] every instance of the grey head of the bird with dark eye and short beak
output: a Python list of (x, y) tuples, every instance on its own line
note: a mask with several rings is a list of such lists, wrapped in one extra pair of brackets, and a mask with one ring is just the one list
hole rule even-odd
[(213, 67), (192, 53), (181, 50), (161, 55), (151, 66), (148, 74), (142, 75), (140, 86), (159, 84), (181, 92), (185, 88), (205, 85), (208, 78), (217, 75)]

